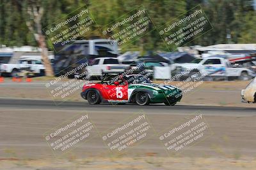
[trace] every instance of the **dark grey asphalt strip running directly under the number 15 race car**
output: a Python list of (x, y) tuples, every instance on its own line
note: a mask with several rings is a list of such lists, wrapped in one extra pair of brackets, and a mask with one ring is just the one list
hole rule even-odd
[(225, 107), (225, 106), (189, 106), (179, 105), (165, 106), (164, 104), (150, 104), (138, 106), (137, 104), (111, 104), (101, 103), (97, 105), (74, 101), (49, 101), (40, 99), (1, 99), (0, 107), (10, 108), (45, 108), (52, 110), (84, 110), (84, 111), (137, 111), (145, 110), (155, 114), (191, 113), (191, 111), (204, 111), (204, 114), (212, 115), (256, 115), (256, 108)]

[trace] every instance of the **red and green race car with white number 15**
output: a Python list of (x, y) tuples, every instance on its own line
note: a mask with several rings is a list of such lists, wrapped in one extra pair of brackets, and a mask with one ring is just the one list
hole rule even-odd
[(132, 74), (103, 78), (100, 83), (90, 83), (83, 86), (81, 97), (89, 104), (108, 103), (164, 103), (175, 105), (182, 98), (182, 92), (171, 85), (157, 85), (145, 76)]

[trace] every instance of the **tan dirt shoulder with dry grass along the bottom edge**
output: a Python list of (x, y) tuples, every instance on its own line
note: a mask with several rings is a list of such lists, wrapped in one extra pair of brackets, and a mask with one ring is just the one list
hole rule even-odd
[(225, 159), (225, 158), (113, 158), (104, 159), (91, 157), (86, 159), (67, 160), (0, 160), (0, 169), (254, 169), (255, 159)]

